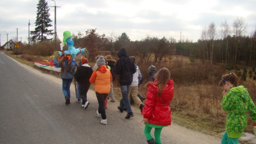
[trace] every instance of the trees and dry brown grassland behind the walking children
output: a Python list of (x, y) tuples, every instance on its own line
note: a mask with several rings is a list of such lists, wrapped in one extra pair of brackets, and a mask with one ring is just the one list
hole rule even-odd
[[(246, 35), (246, 23), (242, 17), (237, 17), (231, 26), (227, 21), (220, 26), (210, 23), (202, 30), (197, 42), (150, 35), (131, 41), (125, 32), (121, 35), (112, 32), (106, 36), (99, 35), (96, 30), (72, 34), (74, 47), (87, 48), (89, 51), (91, 67), (98, 55), (111, 54), (117, 61), (117, 52), (124, 47), (129, 56), (136, 57), (136, 64), (144, 78), (143, 86), (148, 81), (149, 66), (155, 65), (157, 70), (163, 67), (170, 70), (174, 81), (170, 108), (175, 123), (213, 135), (224, 132), (227, 112), (221, 108), (223, 88), (218, 83), (222, 75), (230, 72), (239, 76), (239, 84), (248, 89), (256, 102), (256, 29)], [(57, 39), (57, 45), (60, 43), (60, 39)], [(31, 39), (30, 44), (19, 46), (18, 51), (14, 49), (12, 52), (13, 56), (18, 55), (18, 59), (30, 61), (30, 64), (52, 60), (50, 56), (54, 52), (54, 40)], [(59, 46), (58, 49), (60, 51)], [(62, 51), (65, 50), (67, 48), (64, 46)], [(77, 56), (75, 60), (78, 62), (80, 57)], [(146, 93), (143, 86), (139, 88), (141, 95)], [(114, 82), (114, 92), (116, 98), (121, 98), (118, 80)], [(248, 113), (247, 132), (252, 132), (251, 122)]]

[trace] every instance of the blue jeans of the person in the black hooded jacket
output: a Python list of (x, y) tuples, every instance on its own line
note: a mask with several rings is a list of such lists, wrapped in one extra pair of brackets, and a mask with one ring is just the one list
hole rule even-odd
[(120, 100), (120, 107), (127, 110), (127, 113), (132, 112), (131, 104), (128, 98), (128, 92), (131, 85), (120, 85), (123, 98)]

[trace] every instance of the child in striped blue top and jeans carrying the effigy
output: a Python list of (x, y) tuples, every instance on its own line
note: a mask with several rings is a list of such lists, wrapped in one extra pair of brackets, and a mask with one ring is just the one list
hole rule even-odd
[(75, 64), (71, 61), (70, 54), (64, 55), (60, 61), (57, 57), (54, 57), (53, 64), (61, 67), (62, 92), (66, 100), (65, 104), (68, 105), (70, 104), (70, 85), (75, 73)]

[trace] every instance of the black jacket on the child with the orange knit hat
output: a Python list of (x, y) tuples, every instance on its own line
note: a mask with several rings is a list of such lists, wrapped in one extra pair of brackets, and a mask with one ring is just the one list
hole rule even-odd
[(92, 73), (92, 68), (88, 64), (83, 64), (82, 66), (77, 66), (77, 70), (74, 76), (79, 85), (90, 85), (91, 83), (89, 80), (92, 76)]

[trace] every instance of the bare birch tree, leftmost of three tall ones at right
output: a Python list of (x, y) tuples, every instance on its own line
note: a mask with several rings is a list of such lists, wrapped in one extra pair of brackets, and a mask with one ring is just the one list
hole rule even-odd
[(214, 40), (218, 37), (216, 28), (217, 27), (215, 23), (211, 22), (207, 29), (207, 37), (209, 38), (209, 41), (210, 41), (210, 63), (211, 64), (212, 64), (212, 57), (213, 57)]

